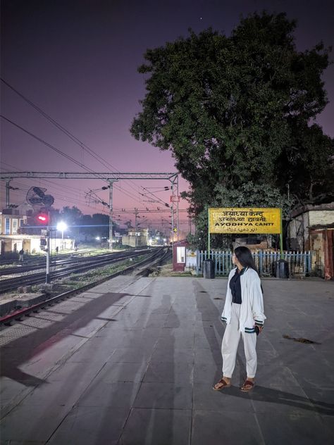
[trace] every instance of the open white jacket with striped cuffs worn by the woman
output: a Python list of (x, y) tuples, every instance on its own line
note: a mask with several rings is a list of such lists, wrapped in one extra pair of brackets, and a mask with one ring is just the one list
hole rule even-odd
[[(228, 275), (228, 289), (226, 292), (225, 306), (221, 314), (221, 320), (230, 323), (232, 308), (232, 292), (230, 289), (230, 279), (235, 274), (235, 268)], [(241, 285), (241, 308), (240, 308), (240, 332), (255, 332), (254, 325), (263, 326), (266, 315), (264, 315), (264, 298), (261, 290), (259, 275), (252, 268), (247, 268), (240, 275)]]

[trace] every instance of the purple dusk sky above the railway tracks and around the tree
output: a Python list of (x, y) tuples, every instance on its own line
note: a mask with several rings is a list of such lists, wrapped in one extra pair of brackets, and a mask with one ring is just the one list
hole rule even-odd
[[(171, 153), (136, 141), (129, 132), (144, 78), (137, 73), (147, 48), (161, 46), (187, 29), (211, 26), (230, 35), (240, 15), (266, 8), (297, 18), (297, 49), (311, 49), (320, 40), (333, 44), (334, 7), (330, 0), (2, 0), (1, 77), (63, 125), (108, 165), (101, 165), (66, 134), (1, 82), (1, 114), (95, 171), (173, 172)], [(333, 53), (332, 53), (333, 58)], [(323, 77), (330, 104), (318, 117), (334, 137), (334, 66)], [(85, 171), (48, 146), (1, 120), (1, 171)], [(89, 203), (89, 189), (101, 181), (13, 180), (11, 203), (25, 201), (27, 189), (38, 185), (55, 197), (54, 207), (78, 206), (83, 213), (107, 213)], [(168, 182), (120, 181), (115, 185), (115, 213), (121, 208), (163, 207), (150, 203), (142, 187), (158, 190)], [(149, 189), (149, 190), (154, 190)], [(180, 192), (187, 183), (180, 180)], [(107, 192), (97, 192), (108, 201)], [(169, 192), (156, 192), (169, 201)], [(1, 208), (4, 206), (1, 181)], [(180, 208), (187, 208), (186, 202)], [(122, 220), (133, 215), (123, 215)], [(152, 215), (156, 221), (161, 215)], [(164, 217), (166, 218), (166, 216)], [(185, 220), (185, 215), (180, 217)], [(185, 225), (184, 225), (185, 227)]]

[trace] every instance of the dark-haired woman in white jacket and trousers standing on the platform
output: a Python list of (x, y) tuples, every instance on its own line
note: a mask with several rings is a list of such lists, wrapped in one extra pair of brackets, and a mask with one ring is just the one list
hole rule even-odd
[(232, 257), (236, 266), (228, 276), (228, 289), (221, 320), (226, 322), (221, 354), (223, 356), (223, 377), (214, 385), (214, 390), (230, 387), (235, 368), (237, 345), (240, 335), (244, 342), (247, 378), (240, 388), (250, 391), (254, 387), (256, 373), (256, 336), (264, 327), (264, 299), (261, 281), (251, 251), (237, 247)]

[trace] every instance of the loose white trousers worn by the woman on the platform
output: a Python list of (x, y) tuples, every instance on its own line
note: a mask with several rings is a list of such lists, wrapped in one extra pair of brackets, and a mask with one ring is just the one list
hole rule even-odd
[(240, 341), (240, 334), (244, 342), (247, 377), (255, 377), (257, 356), (256, 356), (256, 334), (240, 332), (240, 304), (232, 303), (230, 323), (225, 327), (225, 333), (221, 344), (221, 355), (223, 356), (223, 376), (231, 378), (235, 368), (237, 358), (237, 345)]

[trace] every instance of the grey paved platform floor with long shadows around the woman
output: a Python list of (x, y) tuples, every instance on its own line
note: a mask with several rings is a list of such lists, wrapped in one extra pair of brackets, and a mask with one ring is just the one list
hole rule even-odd
[(120, 276), (1, 330), (1, 445), (333, 444), (334, 282), (263, 280), (249, 394), (242, 341), (212, 389), (226, 284)]

